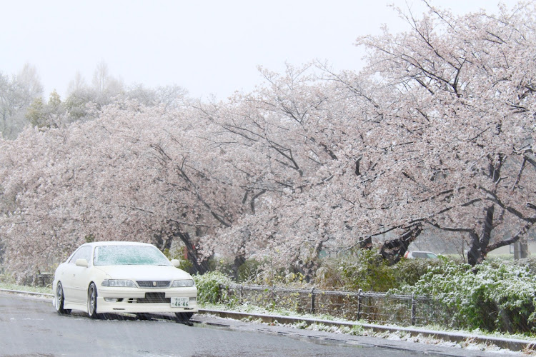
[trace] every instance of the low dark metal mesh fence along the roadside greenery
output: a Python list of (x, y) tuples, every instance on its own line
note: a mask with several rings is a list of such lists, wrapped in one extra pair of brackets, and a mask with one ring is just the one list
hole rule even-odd
[(426, 296), (237, 284), (220, 286), (220, 291), (222, 303), (251, 303), (267, 308), (286, 308), (297, 313), (326, 314), (350, 321), (400, 326), (458, 325), (445, 304)]

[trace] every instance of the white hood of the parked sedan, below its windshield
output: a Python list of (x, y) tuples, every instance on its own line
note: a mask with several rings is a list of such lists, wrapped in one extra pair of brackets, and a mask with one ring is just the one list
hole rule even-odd
[(112, 279), (131, 280), (177, 280), (191, 279), (192, 276), (174, 266), (95, 266)]

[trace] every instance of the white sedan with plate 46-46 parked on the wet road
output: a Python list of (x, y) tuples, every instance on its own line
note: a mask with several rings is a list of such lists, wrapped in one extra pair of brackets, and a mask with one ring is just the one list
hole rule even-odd
[(148, 243), (95, 242), (80, 246), (54, 273), (54, 307), (60, 314), (197, 312), (192, 276)]

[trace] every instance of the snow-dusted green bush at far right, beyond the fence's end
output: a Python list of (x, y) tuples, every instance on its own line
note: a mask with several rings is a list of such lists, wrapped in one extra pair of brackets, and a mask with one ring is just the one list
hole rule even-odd
[(452, 311), (452, 323), (470, 329), (536, 331), (536, 281), (529, 266), (482, 263), (477, 268), (445, 260), (403, 293), (434, 296)]

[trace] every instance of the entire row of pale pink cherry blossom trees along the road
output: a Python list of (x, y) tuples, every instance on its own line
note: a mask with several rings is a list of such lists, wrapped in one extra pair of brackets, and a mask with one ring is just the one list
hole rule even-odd
[(257, 254), (310, 277), (326, 247), (396, 263), (430, 227), (480, 263), (536, 221), (533, 7), (399, 10), (409, 30), (359, 38), (359, 73), (261, 69), (219, 103), (137, 91), (1, 140), (4, 263), (24, 276), (86, 240), (180, 241), (197, 271)]

